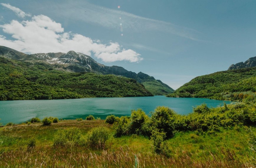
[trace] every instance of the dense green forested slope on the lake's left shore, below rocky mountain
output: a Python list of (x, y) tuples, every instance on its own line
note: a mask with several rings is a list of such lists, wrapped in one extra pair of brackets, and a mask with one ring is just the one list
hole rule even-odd
[(0, 57), (0, 100), (152, 96), (134, 79), (95, 73), (68, 73), (45, 63)]

